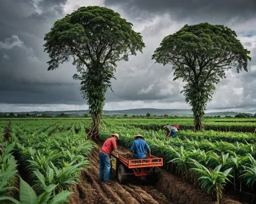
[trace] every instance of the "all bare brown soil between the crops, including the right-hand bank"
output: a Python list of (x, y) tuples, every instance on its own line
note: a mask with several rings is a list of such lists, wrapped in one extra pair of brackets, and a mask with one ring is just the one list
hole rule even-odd
[[(120, 150), (120, 148), (119, 148)], [(121, 151), (126, 152), (125, 148)], [(115, 177), (115, 158), (112, 158), (111, 185), (99, 181), (98, 150), (93, 150), (90, 155), (91, 166), (81, 173), (80, 183), (71, 190), (71, 204), (89, 203), (116, 203), (116, 204), (215, 204), (214, 198), (202, 193), (193, 185), (184, 183), (179, 177), (170, 175), (159, 169), (159, 182), (149, 185), (141, 179), (131, 179), (129, 184), (121, 185)], [(224, 198), (222, 204), (241, 204), (238, 201)]]

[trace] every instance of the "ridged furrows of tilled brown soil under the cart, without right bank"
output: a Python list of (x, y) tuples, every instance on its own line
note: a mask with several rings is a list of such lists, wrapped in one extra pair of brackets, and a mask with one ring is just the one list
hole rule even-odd
[(116, 203), (116, 204), (167, 204), (173, 203), (154, 189), (152, 186), (129, 184), (120, 185), (115, 179), (114, 172), (111, 173), (112, 185), (99, 181), (99, 158), (97, 151), (91, 156), (91, 167), (82, 171), (81, 181), (69, 197), (71, 204), (89, 203)]

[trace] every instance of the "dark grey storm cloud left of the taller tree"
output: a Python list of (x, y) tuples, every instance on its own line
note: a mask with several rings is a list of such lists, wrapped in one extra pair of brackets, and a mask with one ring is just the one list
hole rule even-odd
[[(75, 70), (47, 72), (43, 37), (53, 22), (63, 16), (66, 0), (0, 3), (0, 102), (84, 103)], [(56, 76), (56, 77), (54, 77)]]

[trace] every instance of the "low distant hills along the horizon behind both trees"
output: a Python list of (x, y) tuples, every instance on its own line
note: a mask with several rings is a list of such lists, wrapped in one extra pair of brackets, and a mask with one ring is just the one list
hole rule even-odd
[[(69, 114), (72, 117), (79, 117), (83, 116), (84, 114), (89, 115), (89, 110), (65, 110), (65, 111), (32, 111), (32, 112), (14, 112), (14, 114), (46, 114), (46, 115), (52, 115), (57, 116), (61, 113)], [(136, 108), (136, 109), (126, 109), (126, 110), (103, 110), (103, 116), (123, 116), (123, 115), (142, 115), (145, 116), (147, 112), (150, 112), (151, 116), (193, 116), (193, 113), (189, 109), (156, 109), (156, 108)], [(208, 112), (205, 114), (206, 116), (236, 116), (239, 112)]]

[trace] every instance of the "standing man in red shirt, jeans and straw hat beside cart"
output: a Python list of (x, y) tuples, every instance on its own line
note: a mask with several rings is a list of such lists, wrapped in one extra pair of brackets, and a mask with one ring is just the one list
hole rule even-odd
[[(111, 134), (111, 138), (106, 139), (103, 143), (103, 146), (101, 147), (99, 151), (99, 179), (102, 182), (104, 180), (104, 183), (111, 184), (110, 182), (110, 154), (112, 151), (115, 153), (123, 154), (122, 152), (119, 152), (117, 150), (116, 141), (119, 140), (119, 134), (114, 133)], [(105, 168), (105, 177), (103, 179), (103, 172)]]

